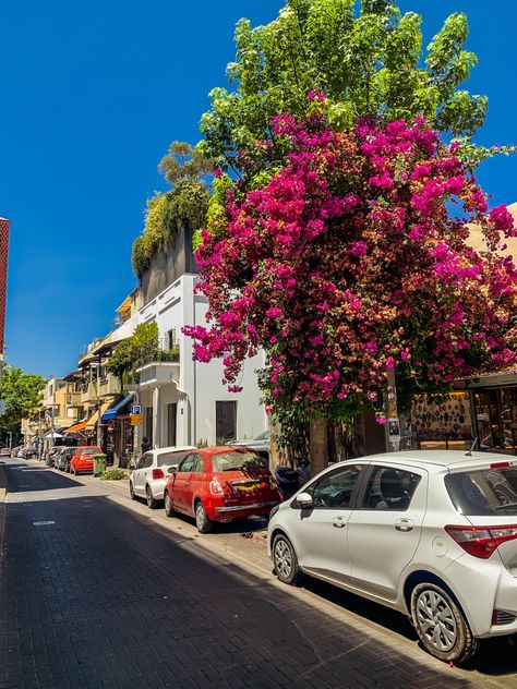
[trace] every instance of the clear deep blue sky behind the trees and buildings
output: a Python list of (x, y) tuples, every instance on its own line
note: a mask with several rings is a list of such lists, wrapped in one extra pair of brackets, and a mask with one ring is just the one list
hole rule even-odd
[[(0, 5), (0, 216), (11, 252), (7, 352), (44, 375), (75, 366), (135, 287), (131, 244), (145, 201), (167, 185), (157, 162), (173, 140), (196, 142), (207, 94), (225, 85), (233, 26), (274, 19), (281, 0), (27, 0)], [(478, 141), (517, 143), (514, 2), (401, 0), (429, 40), (453, 11), (469, 15), (490, 97)], [(478, 173), (493, 203), (517, 201), (517, 158)]]

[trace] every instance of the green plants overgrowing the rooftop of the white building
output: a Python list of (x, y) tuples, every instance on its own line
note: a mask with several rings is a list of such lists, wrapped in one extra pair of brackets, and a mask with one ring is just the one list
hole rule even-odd
[(173, 142), (158, 169), (173, 189), (147, 201), (145, 228), (133, 243), (133, 269), (141, 277), (153, 257), (167, 250), (170, 239), (189, 225), (194, 231), (206, 221), (209, 191), (204, 181), (212, 161), (190, 144)]

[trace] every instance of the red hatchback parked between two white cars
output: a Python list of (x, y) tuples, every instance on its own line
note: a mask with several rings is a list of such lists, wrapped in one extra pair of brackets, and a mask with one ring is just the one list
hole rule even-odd
[(268, 516), (281, 494), (266, 461), (245, 447), (213, 447), (189, 452), (165, 487), (165, 511), (195, 518), (201, 533), (215, 521)]

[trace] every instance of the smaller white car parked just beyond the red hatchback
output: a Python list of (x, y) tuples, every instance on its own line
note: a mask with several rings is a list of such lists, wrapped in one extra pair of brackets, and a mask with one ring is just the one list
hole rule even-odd
[(169, 469), (178, 467), (183, 457), (195, 447), (160, 447), (144, 452), (130, 475), (130, 495), (145, 497), (147, 506), (154, 509), (164, 499), (165, 485), (170, 478)]

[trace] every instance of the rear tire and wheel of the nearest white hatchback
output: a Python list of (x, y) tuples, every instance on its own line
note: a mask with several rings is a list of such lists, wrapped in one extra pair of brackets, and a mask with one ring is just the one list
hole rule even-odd
[(434, 583), (419, 583), (411, 593), (411, 619), (424, 649), (434, 657), (467, 664), (479, 651), (459, 605)]

